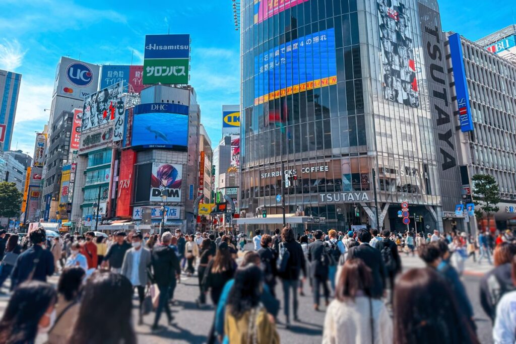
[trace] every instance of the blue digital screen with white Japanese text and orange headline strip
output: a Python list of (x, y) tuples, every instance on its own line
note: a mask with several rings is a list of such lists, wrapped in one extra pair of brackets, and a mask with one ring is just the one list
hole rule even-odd
[(334, 29), (314, 32), (256, 56), (254, 73), (257, 75), (254, 78), (255, 105), (285, 95), (335, 85)]

